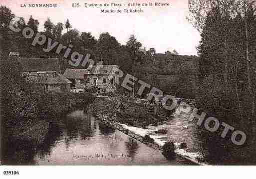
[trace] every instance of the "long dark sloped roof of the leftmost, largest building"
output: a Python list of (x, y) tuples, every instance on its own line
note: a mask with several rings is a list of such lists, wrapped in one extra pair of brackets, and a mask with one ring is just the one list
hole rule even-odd
[(60, 73), (58, 58), (19, 58), (23, 72), (56, 71)]

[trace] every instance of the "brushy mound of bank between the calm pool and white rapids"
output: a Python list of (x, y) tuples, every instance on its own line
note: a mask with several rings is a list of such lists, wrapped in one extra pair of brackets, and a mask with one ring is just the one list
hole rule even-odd
[(152, 104), (144, 99), (122, 96), (120, 112), (115, 112), (116, 102), (115, 97), (97, 96), (90, 107), (92, 112), (101, 112), (115, 117), (115, 120), (121, 124), (140, 128), (145, 128), (148, 124), (158, 126), (171, 120), (170, 111), (165, 110), (162, 105)]

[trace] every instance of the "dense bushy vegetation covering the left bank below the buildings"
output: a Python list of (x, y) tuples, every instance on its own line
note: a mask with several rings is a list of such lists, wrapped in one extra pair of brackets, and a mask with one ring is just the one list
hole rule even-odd
[(50, 124), (57, 117), (84, 108), (93, 99), (85, 93), (37, 89), (26, 81), (20, 69), (15, 61), (5, 60), (0, 66), (1, 135), (17, 147), (22, 141), (29, 141), (33, 146), (43, 143)]

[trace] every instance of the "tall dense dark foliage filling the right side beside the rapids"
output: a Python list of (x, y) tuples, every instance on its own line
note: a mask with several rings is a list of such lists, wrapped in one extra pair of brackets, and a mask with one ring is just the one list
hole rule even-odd
[[(238, 148), (230, 145), (230, 141), (218, 137), (217, 133), (206, 132), (206, 135), (200, 135), (206, 137), (206, 144), (211, 151), (209, 154), (218, 162), (227, 160), (227, 156), (253, 161), (255, 158), (246, 156), (255, 156), (256, 144), (255, 1), (189, 2), (190, 20), (202, 37), (198, 47), (198, 108), (246, 132), (248, 141), (243, 148)], [(241, 150), (247, 154), (241, 153)]]

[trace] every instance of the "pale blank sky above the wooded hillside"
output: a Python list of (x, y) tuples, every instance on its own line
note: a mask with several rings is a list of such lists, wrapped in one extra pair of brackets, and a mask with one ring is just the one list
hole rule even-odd
[[(72, 7), (72, 3), (80, 7)], [(84, 7), (84, 3), (121, 3), (122, 7)], [(100, 9), (129, 9), (127, 3), (155, 2), (169, 3), (169, 6), (140, 6), (142, 13), (101, 13)], [(29, 3), (57, 3), (55, 8), (21, 7)], [(16, 16), (27, 21), (29, 16), (39, 21), (39, 30), (49, 17), (51, 21), (64, 22), (68, 18), (72, 28), (80, 32), (91, 32), (97, 39), (102, 32), (109, 32), (119, 43), (126, 44), (134, 34), (143, 47), (154, 47), (157, 53), (176, 49), (181, 55), (197, 55), (196, 46), (200, 41), (199, 32), (187, 21), (188, 0), (1, 0)], [(64, 29), (65, 32), (65, 29)]]

